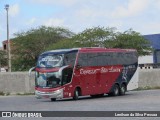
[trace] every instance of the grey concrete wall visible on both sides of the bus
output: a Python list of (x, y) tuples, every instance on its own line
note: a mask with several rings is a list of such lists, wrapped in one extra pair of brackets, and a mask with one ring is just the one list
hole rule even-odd
[[(160, 69), (139, 69), (138, 80), (131, 81), (131, 87), (160, 87)], [(34, 92), (34, 73), (28, 72), (0, 73), (0, 91), (9, 93)]]

